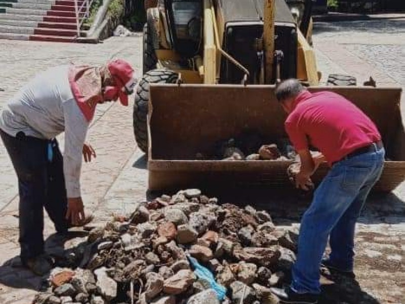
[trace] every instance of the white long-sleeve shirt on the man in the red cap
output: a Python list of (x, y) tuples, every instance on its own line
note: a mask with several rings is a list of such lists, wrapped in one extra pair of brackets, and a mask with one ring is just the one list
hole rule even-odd
[(82, 149), (89, 122), (78, 107), (68, 81), (68, 65), (36, 75), (12, 97), (0, 114), (0, 129), (11, 136), (52, 139), (65, 132), (63, 171), (68, 198), (80, 197)]

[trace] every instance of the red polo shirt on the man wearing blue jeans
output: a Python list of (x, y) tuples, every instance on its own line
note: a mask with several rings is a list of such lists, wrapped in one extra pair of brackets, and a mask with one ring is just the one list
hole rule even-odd
[(333, 92), (301, 92), (285, 123), (295, 149), (317, 147), (328, 163), (381, 140), (375, 124), (353, 103)]

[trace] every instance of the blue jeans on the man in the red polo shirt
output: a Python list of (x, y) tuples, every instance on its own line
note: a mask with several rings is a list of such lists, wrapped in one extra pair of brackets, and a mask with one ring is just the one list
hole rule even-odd
[(335, 163), (314, 193), (301, 220), (297, 262), (291, 287), (299, 293), (320, 293), (319, 267), (328, 237), (330, 262), (353, 270), (356, 220), (384, 166), (384, 148)]

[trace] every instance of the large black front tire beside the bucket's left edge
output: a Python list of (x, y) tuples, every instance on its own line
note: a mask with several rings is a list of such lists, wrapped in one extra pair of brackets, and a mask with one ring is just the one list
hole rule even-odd
[(179, 75), (172, 70), (154, 69), (145, 73), (139, 82), (134, 104), (134, 135), (138, 147), (144, 153), (147, 153), (148, 150), (147, 117), (149, 84), (174, 84), (178, 78)]

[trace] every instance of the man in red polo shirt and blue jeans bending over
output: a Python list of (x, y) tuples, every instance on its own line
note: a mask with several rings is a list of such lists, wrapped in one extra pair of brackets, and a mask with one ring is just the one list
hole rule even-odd
[[(301, 158), (296, 186), (308, 189), (322, 161), (331, 167), (303, 215), (291, 286), (272, 289), (281, 302), (316, 303), (321, 263), (354, 276), (355, 223), (381, 176), (385, 151), (374, 123), (344, 97), (327, 91), (312, 94), (296, 79), (280, 83), (275, 94), (289, 114), (286, 131)], [(309, 145), (322, 156), (313, 159)], [(328, 237), (332, 251), (322, 261)]]

